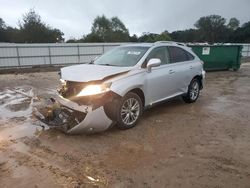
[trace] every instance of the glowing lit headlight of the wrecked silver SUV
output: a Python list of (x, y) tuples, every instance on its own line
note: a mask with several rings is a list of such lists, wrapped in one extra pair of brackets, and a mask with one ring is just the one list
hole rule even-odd
[(110, 86), (111, 83), (88, 85), (84, 87), (76, 96), (84, 97), (84, 96), (102, 94), (109, 91)]

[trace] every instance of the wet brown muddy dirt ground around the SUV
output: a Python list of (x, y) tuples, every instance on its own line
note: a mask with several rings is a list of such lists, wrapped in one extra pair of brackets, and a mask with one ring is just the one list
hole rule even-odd
[(250, 63), (207, 73), (199, 100), (147, 110), (138, 126), (94, 135), (41, 127), (34, 96), (56, 72), (0, 75), (0, 187), (250, 187)]

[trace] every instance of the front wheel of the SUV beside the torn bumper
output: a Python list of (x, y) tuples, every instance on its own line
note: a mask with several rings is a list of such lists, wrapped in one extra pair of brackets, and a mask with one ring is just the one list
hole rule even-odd
[(133, 92), (127, 93), (118, 103), (116, 112), (117, 127), (129, 129), (134, 127), (143, 112), (141, 98)]

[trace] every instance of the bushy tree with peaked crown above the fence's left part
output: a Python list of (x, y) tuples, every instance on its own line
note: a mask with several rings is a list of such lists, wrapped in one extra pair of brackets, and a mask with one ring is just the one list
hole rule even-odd
[(59, 29), (52, 29), (41, 21), (40, 15), (30, 10), (23, 16), (20, 26), (20, 42), (51, 43), (64, 41)]

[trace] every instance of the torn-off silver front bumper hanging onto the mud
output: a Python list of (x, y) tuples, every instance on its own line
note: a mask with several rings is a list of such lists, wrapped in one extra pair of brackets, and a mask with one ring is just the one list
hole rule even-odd
[(59, 94), (54, 101), (58, 107), (53, 109), (53, 118), (49, 119), (44, 115), (41, 117), (41, 113), (37, 117), (49, 127), (59, 128), (65, 133), (101, 132), (107, 130), (113, 123), (106, 115), (104, 106), (93, 108), (91, 105), (79, 105)]

